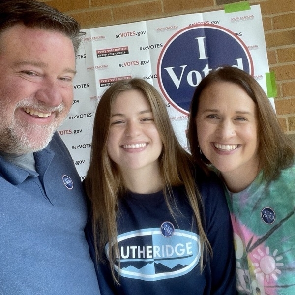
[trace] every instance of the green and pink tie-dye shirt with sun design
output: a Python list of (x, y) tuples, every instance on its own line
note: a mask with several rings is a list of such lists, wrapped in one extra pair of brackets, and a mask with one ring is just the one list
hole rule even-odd
[(295, 165), (268, 184), (261, 172), (245, 190), (226, 196), (238, 293), (295, 295)]

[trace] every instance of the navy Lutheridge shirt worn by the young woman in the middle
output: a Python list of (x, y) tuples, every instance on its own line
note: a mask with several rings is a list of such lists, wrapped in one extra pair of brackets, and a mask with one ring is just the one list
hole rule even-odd
[[(99, 263), (101, 294), (236, 294), (233, 232), (223, 188), (213, 176), (198, 182), (204, 228), (213, 250), (203, 272), (199, 231), (183, 187), (173, 188), (173, 215), (162, 191), (128, 192), (120, 199), (117, 217), (119, 263), (115, 270), (120, 273), (120, 285), (114, 284), (108, 264)], [(87, 235), (95, 261), (91, 226)]]

